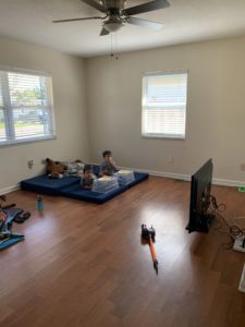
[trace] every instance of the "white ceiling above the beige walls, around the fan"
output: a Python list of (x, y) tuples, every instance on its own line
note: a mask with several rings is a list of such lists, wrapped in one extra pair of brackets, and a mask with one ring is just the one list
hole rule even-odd
[[(126, 8), (150, 0), (127, 0)], [(169, 0), (170, 8), (139, 19), (163, 23), (161, 31), (126, 24), (117, 51), (245, 35), (245, 0)], [(0, 0), (0, 36), (82, 57), (107, 55), (115, 36), (99, 36), (101, 21), (53, 24), (53, 20), (102, 15), (81, 0)]]

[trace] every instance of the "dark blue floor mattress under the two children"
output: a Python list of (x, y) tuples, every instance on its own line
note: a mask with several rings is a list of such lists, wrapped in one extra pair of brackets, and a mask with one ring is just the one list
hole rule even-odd
[[(96, 171), (97, 172), (97, 171)], [(61, 195), (81, 201), (102, 204), (110, 198), (128, 190), (144, 180), (148, 179), (148, 173), (134, 172), (135, 180), (127, 185), (119, 186), (108, 193), (93, 192), (81, 186), (81, 178), (76, 175), (64, 177), (62, 179), (50, 179), (47, 174), (38, 175), (21, 182), (21, 189), (38, 194)]]

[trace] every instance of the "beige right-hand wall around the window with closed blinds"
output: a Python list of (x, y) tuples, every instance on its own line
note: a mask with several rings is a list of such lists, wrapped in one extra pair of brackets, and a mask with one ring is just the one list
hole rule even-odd
[[(142, 74), (177, 70), (188, 71), (186, 140), (143, 138)], [(215, 178), (245, 182), (244, 37), (89, 59), (87, 83), (94, 161), (109, 148), (120, 166), (189, 175), (211, 157)]]

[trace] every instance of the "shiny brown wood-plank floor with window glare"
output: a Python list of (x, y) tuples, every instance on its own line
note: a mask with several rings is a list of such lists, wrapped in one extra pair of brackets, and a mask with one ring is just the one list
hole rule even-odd
[[(226, 218), (245, 216), (245, 193), (212, 193)], [(188, 182), (150, 177), (103, 205), (45, 196), (44, 214), (34, 193), (12, 202), (32, 217), (12, 227), (25, 241), (0, 252), (0, 326), (245, 326), (245, 253), (225, 250), (218, 220), (187, 233)], [(158, 275), (142, 223), (157, 231)]]

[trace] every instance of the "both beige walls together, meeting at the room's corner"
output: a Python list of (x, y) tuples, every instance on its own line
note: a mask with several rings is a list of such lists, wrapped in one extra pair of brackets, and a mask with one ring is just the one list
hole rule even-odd
[[(1, 65), (51, 73), (57, 125), (57, 140), (0, 147), (0, 191), (40, 173), (46, 157), (99, 162), (106, 148), (120, 166), (173, 175), (189, 175), (212, 157), (215, 178), (245, 183), (244, 37), (124, 53), (119, 60), (85, 61), (1, 38), (0, 47)], [(186, 140), (143, 138), (142, 74), (176, 70), (188, 70)], [(32, 170), (28, 158), (35, 161)]]

